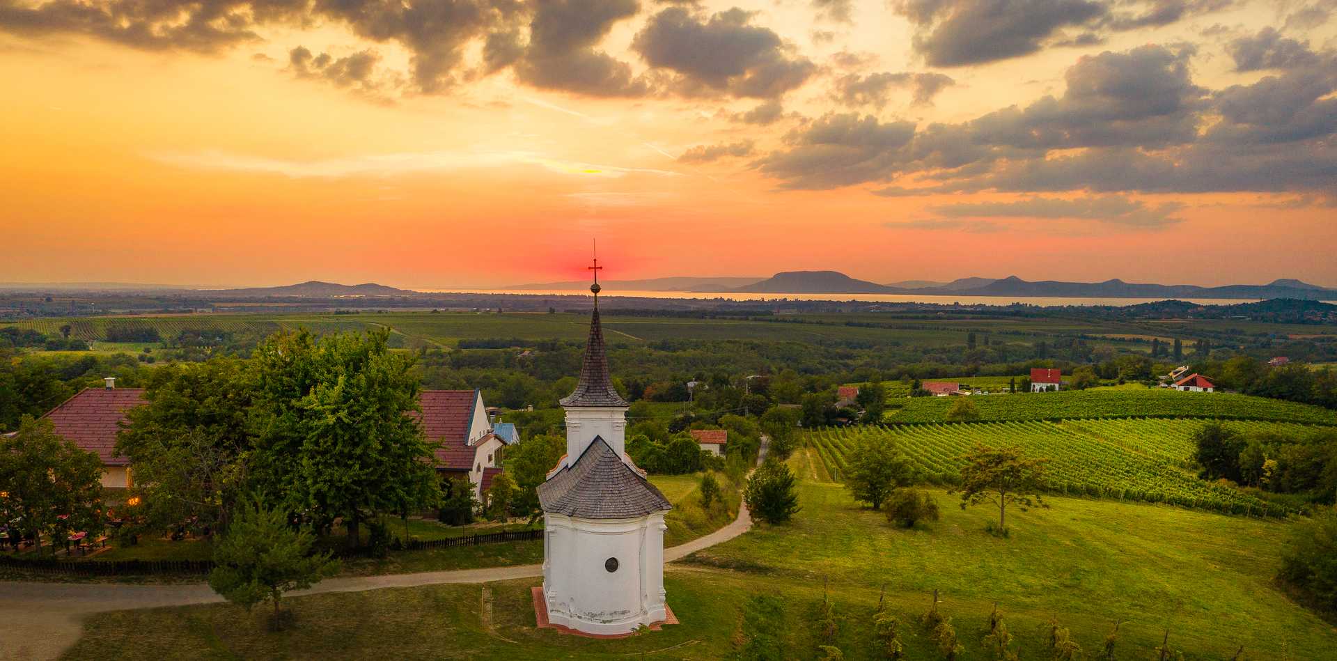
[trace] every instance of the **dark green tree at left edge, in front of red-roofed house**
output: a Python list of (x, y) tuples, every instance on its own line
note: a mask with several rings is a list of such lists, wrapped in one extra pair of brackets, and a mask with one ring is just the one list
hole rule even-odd
[(72, 531), (102, 531), (102, 459), (56, 435), (51, 420), (23, 416), (13, 436), (0, 436), (0, 521), (41, 550)]

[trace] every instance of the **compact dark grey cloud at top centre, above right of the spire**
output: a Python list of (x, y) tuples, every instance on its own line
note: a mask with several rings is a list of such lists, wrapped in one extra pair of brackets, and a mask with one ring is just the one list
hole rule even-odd
[(650, 17), (632, 50), (651, 67), (678, 74), (681, 94), (775, 98), (804, 84), (817, 67), (790, 56), (779, 35), (734, 8), (703, 20), (682, 8)]

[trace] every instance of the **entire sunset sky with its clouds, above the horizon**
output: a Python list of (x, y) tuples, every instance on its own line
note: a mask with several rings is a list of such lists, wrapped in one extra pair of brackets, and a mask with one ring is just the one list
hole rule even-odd
[(1337, 0), (0, 0), (0, 281), (1337, 286)]

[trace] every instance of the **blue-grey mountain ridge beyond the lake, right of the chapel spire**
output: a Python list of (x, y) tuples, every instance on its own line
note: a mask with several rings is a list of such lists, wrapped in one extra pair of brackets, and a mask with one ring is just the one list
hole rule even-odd
[[(906, 286), (913, 285), (913, 286)], [(909, 281), (880, 285), (856, 280), (834, 270), (790, 270), (734, 293), (821, 293), (821, 294), (929, 294), (929, 296), (1025, 296), (1058, 298), (1300, 298), (1337, 300), (1337, 289), (1310, 285), (1298, 280), (1275, 280), (1266, 285), (1157, 285), (1106, 280), (1104, 282), (1064, 282), (1058, 280), (1027, 281), (1016, 276), (1001, 280), (959, 278), (952, 282)]]

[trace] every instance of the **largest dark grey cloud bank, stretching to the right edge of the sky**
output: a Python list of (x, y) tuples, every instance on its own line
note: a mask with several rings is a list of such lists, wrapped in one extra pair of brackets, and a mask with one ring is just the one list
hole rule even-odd
[(1337, 199), (1337, 56), (1313, 52), (1313, 64), (1213, 92), (1191, 80), (1190, 52), (1147, 45), (1082, 58), (1062, 96), (964, 123), (906, 131), (857, 120), (862, 134), (892, 130), (896, 140), (830, 139), (834, 126), (856, 118), (828, 116), (754, 166), (783, 189), (890, 182), (877, 190), (889, 197), (1292, 191)]

